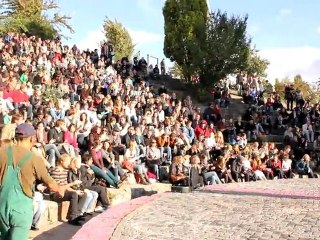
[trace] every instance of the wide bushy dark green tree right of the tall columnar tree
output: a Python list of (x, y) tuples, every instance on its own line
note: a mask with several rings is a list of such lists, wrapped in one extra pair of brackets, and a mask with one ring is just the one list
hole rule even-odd
[(199, 62), (200, 83), (203, 87), (214, 85), (229, 74), (245, 68), (250, 54), (247, 37), (248, 16), (228, 17), (227, 13), (211, 13), (207, 23), (205, 55)]

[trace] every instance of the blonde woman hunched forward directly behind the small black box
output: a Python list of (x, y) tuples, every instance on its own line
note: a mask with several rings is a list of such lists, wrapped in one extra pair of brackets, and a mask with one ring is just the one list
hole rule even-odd
[(189, 167), (185, 164), (186, 159), (183, 156), (176, 156), (172, 159), (169, 168), (169, 181), (173, 185), (189, 185)]

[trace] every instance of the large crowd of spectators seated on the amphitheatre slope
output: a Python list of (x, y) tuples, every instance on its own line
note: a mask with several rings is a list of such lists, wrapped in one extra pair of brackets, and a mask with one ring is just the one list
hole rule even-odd
[[(202, 110), (164, 83), (153, 85), (144, 58), (114, 61), (113, 55), (110, 44), (99, 53), (70, 48), (60, 39), (16, 33), (0, 38), (1, 144), (15, 144), (15, 129), (23, 125), (33, 133), (32, 151), (66, 189), (61, 197), (37, 182), (32, 229), (44, 209), (42, 192), (53, 201), (70, 201), (69, 223), (80, 226), (86, 216), (108, 208), (106, 188), (120, 188), (130, 175), (141, 184), (169, 181), (192, 188), (294, 173), (316, 176), (310, 156), (297, 157), (290, 147), (296, 135), (287, 133), (283, 150), (257, 142), (272, 131), (268, 113), (277, 108), (276, 100), (270, 105), (268, 99), (263, 112), (250, 107), (226, 121), (220, 108), (230, 104), (228, 86), (217, 87), (215, 101)], [(153, 74), (164, 72), (163, 62)], [(260, 96), (263, 85), (255, 86)], [(289, 123), (286, 114), (280, 111), (278, 127)], [(301, 114), (292, 119), (304, 123)], [(310, 125), (301, 127), (301, 136), (310, 133)]]

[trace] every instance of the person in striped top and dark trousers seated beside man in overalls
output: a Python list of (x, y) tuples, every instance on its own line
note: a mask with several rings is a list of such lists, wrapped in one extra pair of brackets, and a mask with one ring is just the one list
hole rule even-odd
[(79, 194), (77, 191), (73, 190), (71, 187), (75, 185), (80, 185), (81, 181), (76, 180), (68, 184), (68, 170), (71, 162), (71, 157), (67, 154), (62, 154), (57, 161), (56, 167), (50, 172), (51, 177), (58, 183), (59, 186), (65, 186), (66, 192), (63, 198), (59, 197), (56, 193), (51, 195), (52, 200), (56, 202), (70, 201), (70, 207), (68, 211), (68, 223), (81, 226), (82, 216), (79, 211)]

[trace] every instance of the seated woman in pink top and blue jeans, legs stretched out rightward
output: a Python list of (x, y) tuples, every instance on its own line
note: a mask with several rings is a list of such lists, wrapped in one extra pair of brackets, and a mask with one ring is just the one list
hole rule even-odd
[(100, 139), (96, 139), (94, 145), (90, 150), (90, 154), (93, 159), (93, 165), (91, 165), (91, 169), (93, 170), (96, 177), (104, 179), (110, 187), (118, 188), (118, 179), (116, 179), (112, 172), (104, 166), (101, 149), (101, 141)]

